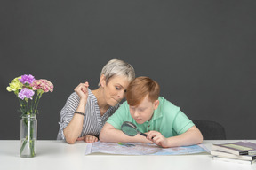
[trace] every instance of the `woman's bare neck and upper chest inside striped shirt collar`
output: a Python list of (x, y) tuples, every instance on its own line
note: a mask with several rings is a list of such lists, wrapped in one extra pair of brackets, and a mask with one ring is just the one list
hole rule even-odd
[(98, 105), (100, 107), (101, 116), (108, 111), (109, 105), (104, 97), (103, 89), (100, 87), (98, 89), (92, 90), (92, 94), (97, 98)]

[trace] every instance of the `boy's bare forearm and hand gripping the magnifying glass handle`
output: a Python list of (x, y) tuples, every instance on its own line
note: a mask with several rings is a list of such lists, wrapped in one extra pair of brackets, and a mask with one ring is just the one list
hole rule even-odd
[(200, 130), (196, 128), (196, 126), (188, 128), (188, 130), (183, 134), (169, 137), (169, 138), (165, 138), (159, 132), (151, 131), (148, 133), (147, 138), (152, 139), (151, 140), (152, 142), (164, 148), (188, 146), (188, 145), (194, 145), (194, 144), (199, 144), (203, 142), (203, 135), (201, 134)]

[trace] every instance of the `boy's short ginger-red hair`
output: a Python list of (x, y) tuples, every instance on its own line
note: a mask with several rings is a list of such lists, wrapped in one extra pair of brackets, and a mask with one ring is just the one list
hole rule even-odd
[(137, 106), (148, 95), (151, 102), (155, 102), (160, 93), (158, 83), (148, 77), (137, 77), (127, 88), (126, 99), (127, 103), (132, 106)]

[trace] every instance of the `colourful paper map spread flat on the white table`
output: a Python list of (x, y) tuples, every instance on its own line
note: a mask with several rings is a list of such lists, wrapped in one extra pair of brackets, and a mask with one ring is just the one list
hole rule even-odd
[(87, 143), (85, 155), (108, 153), (118, 155), (186, 155), (209, 152), (203, 144), (162, 148), (155, 143)]

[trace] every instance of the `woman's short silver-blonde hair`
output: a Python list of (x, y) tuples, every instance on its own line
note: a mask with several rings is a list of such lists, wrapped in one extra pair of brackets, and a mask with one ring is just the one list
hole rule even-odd
[[(135, 71), (132, 65), (119, 59), (111, 59), (108, 61), (108, 63), (102, 68), (100, 76), (102, 74), (104, 74), (107, 84), (109, 79), (116, 75), (125, 76), (128, 81), (135, 79)], [(100, 87), (100, 82), (98, 86)]]

